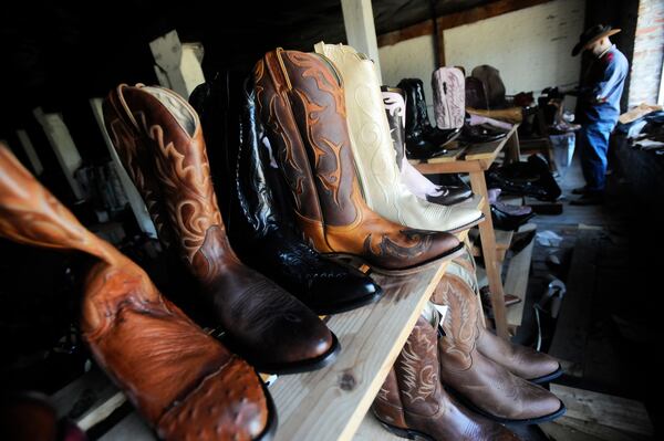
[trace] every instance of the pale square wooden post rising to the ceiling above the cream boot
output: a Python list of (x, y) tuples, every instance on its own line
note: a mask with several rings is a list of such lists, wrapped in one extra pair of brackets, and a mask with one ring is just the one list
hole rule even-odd
[(381, 74), (378, 43), (371, 0), (341, 0), (341, 9), (349, 45), (373, 60), (378, 81), (382, 84), (383, 75)]

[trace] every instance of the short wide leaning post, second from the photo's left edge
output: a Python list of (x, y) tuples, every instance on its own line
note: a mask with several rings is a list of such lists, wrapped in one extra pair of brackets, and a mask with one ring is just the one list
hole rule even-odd
[(41, 124), (44, 134), (46, 135), (46, 139), (49, 139), (49, 144), (55, 153), (58, 162), (60, 164), (60, 167), (62, 167), (62, 171), (64, 171), (64, 177), (66, 178), (74, 197), (76, 199), (83, 199), (83, 190), (81, 189), (79, 181), (74, 178), (74, 172), (81, 167), (83, 160), (81, 159), (81, 155), (79, 155), (72, 135), (62, 119), (62, 115), (45, 114), (41, 107), (35, 107), (32, 111), (32, 114), (39, 124)]

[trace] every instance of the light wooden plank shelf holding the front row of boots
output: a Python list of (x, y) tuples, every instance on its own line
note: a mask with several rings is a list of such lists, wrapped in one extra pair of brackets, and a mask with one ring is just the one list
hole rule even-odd
[[(375, 274), (385, 293), (380, 302), (330, 316), (326, 324), (341, 344), (336, 360), (312, 372), (281, 376), (270, 386), (279, 418), (274, 440), (353, 438), (446, 266), (443, 262), (407, 276)], [(59, 412), (69, 413), (90, 390), (98, 397), (81, 416), (90, 421), (86, 429), (126, 401), (106, 376), (95, 371), (53, 396)], [(102, 439), (152, 441), (155, 435), (133, 411)]]

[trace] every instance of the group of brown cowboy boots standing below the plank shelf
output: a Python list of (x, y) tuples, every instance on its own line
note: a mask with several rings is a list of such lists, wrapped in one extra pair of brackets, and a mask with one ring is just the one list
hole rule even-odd
[(448, 307), (443, 336), (437, 313), (419, 317), (374, 401), (376, 418), (400, 437), (516, 440), (499, 423), (538, 423), (566, 411), (535, 384), (559, 376), (558, 361), (484, 328), (467, 270), (467, 261), (452, 262), (432, 297)]

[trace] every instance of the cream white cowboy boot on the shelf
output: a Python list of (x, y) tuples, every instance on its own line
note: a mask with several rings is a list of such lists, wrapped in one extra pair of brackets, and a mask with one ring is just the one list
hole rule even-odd
[(341, 72), (351, 148), (369, 207), (393, 222), (423, 230), (456, 232), (480, 222), (483, 213), (475, 208), (430, 203), (402, 183), (373, 62), (342, 44), (318, 43), (315, 50)]

